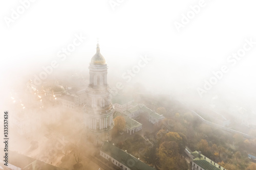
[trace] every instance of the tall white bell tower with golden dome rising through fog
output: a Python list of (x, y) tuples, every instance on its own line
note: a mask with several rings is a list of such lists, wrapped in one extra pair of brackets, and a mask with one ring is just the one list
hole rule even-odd
[(108, 65), (100, 54), (99, 44), (96, 50), (89, 66), (90, 84), (84, 106), (84, 124), (87, 140), (101, 144), (105, 140), (111, 140), (114, 108), (107, 81)]

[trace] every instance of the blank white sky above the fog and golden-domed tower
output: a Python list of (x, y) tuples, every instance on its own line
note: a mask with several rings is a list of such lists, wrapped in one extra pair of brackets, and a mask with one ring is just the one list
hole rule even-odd
[[(11, 18), (11, 9), (16, 10), (20, 1), (1, 1), (2, 89), (17, 78), (38, 74), (41, 66), (58, 59), (57, 52), (80, 33), (87, 39), (56, 69), (71, 63), (88, 69), (99, 37), (101, 54), (112, 74), (109, 80), (121, 79), (140, 55), (147, 55), (152, 61), (132, 81), (144, 82), (158, 92), (191, 88), (197, 93), (204, 79), (209, 80), (212, 71), (227, 65), (227, 57), (243, 47), (245, 38), (256, 41), (253, 0), (205, 0), (205, 7), (179, 33), (174, 22), (181, 22), (182, 14), (191, 11), (189, 6), (199, 4), (198, 0), (119, 0), (115, 10), (109, 2), (36, 0), (7, 27), (4, 17)], [(255, 54), (256, 44), (212, 89), (255, 96)]]

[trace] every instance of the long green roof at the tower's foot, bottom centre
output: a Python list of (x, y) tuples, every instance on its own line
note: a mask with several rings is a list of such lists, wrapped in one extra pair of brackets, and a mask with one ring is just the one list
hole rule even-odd
[(117, 148), (116, 146), (109, 143), (108, 141), (104, 142), (104, 144), (101, 147), (101, 151), (110, 155), (112, 158), (114, 158), (115, 160), (129, 167), (132, 170), (139, 170), (139, 169), (155, 170), (155, 168), (135, 158), (131, 154), (126, 153), (125, 151)]

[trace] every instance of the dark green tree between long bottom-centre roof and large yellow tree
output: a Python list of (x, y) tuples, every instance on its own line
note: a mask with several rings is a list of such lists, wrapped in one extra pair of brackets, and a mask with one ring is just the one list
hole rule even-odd
[(144, 154), (144, 160), (148, 164), (152, 164), (153, 167), (158, 167), (159, 165), (159, 157), (157, 155), (157, 147), (154, 143), (153, 147), (148, 147), (147, 151)]

